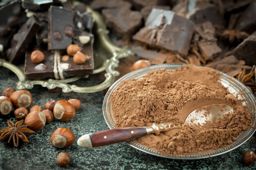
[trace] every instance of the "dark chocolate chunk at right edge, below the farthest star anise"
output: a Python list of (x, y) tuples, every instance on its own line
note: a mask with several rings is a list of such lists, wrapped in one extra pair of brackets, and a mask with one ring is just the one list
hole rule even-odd
[(256, 32), (252, 33), (248, 38), (241, 42), (233, 51), (239, 60), (245, 60), (248, 65), (256, 65)]

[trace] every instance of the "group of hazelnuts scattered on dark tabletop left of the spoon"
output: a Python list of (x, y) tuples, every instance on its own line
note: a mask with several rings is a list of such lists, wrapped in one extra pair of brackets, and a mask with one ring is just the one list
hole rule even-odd
[[(54, 117), (60, 121), (69, 121), (76, 115), (76, 110), (81, 108), (79, 99), (49, 100), (42, 107), (35, 105), (29, 111), (33, 97), (31, 93), (25, 90), (15, 91), (14, 88), (5, 88), (0, 96), (0, 116), (6, 117), (11, 113), (13, 106), (16, 108), (14, 115), (17, 119), (25, 119), (24, 124), (27, 128), (38, 131), (43, 129), (45, 123), (50, 123)], [(67, 148), (74, 143), (74, 133), (67, 128), (58, 128), (51, 135), (51, 144), (57, 148)], [(70, 162), (70, 156), (67, 153), (60, 153), (57, 157), (57, 163), (60, 166), (66, 166)]]

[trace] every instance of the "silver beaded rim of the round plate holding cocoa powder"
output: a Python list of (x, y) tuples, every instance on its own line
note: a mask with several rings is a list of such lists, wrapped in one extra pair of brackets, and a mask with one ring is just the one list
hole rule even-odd
[[(130, 80), (130, 79), (139, 79), (145, 75), (147, 75), (150, 71), (153, 71), (155, 69), (159, 68), (166, 68), (166, 70), (170, 71), (175, 68), (182, 67), (182, 64), (161, 64), (161, 65), (155, 65), (150, 66), (147, 68), (143, 68), (137, 71), (133, 71), (131, 73), (128, 73), (118, 79), (112, 86), (109, 88), (108, 92), (106, 93), (106, 96), (103, 101), (103, 115), (105, 118), (105, 121), (107, 122), (110, 129), (115, 128), (115, 117), (112, 114), (112, 105), (111, 105), (111, 95), (116, 90), (116, 88), (124, 81), (124, 80)], [(244, 105), (248, 107), (248, 109), (252, 112), (253, 118), (255, 118), (255, 111), (256, 111), (256, 98), (252, 94), (252, 92), (241, 82), (239, 82), (236, 78), (231, 77), (225, 73), (221, 73), (220, 82), (228, 88), (230, 93), (238, 96), (238, 99), (244, 99)], [(252, 126), (255, 126), (256, 120), (252, 123)], [(202, 158), (209, 158), (214, 157), (217, 155), (224, 154), (226, 152), (229, 152), (231, 150), (234, 150), (238, 146), (245, 143), (255, 132), (256, 128), (249, 128), (246, 131), (243, 131), (238, 137), (236, 137), (237, 141), (233, 142), (230, 145), (227, 145), (225, 148), (220, 148), (218, 150), (210, 150), (206, 152), (201, 153), (195, 153), (195, 154), (185, 154), (185, 155), (161, 155), (157, 150), (153, 150), (151, 148), (147, 148), (143, 145), (140, 145), (136, 143), (135, 141), (128, 141), (127, 143), (143, 152), (149, 153), (151, 155), (164, 157), (164, 158), (171, 158), (171, 159), (202, 159)]]

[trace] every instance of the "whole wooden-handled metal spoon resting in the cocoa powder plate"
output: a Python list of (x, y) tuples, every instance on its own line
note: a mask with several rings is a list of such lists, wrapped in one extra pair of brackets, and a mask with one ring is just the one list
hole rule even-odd
[(184, 125), (194, 126), (195, 128), (205, 129), (211, 127), (218, 122), (227, 113), (232, 113), (233, 108), (224, 104), (212, 104), (202, 106), (193, 110), (185, 119), (184, 124), (174, 124), (172, 122), (155, 124), (149, 127), (132, 127), (132, 128), (117, 128), (93, 132), (81, 136), (77, 140), (78, 146), (82, 148), (97, 148), (119, 142), (130, 141), (138, 137), (155, 133), (159, 135), (162, 131), (182, 128)]

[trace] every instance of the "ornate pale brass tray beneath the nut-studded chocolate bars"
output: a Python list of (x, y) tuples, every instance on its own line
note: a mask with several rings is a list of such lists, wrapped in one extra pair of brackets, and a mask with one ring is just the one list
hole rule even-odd
[(49, 89), (53, 89), (56, 87), (62, 88), (62, 91), (65, 93), (74, 91), (78, 93), (94, 93), (97, 91), (101, 91), (105, 88), (108, 88), (115, 82), (115, 76), (119, 75), (118, 71), (115, 71), (115, 67), (119, 64), (119, 59), (122, 57), (133, 55), (130, 50), (121, 49), (113, 44), (111, 44), (107, 30), (106, 24), (101, 17), (101, 14), (93, 11), (89, 7), (87, 7), (87, 11), (92, 13), (92, 17), (94, 20), (94, 71), (93, 74), (100, 73), (102, 71), (106, 71), (105, 81), (101, 84), (90, 86), (90, 87), (79, 87), (76, 85), (70, 85), (68, 83), (75, 82), (81, 78), (85, 77), (71, 77), (63, 80), (59, 79), (47, 79), (47, 80), (29, 80), (25, 77), (23, 72), (24, 66), (15, 66), (10, 64), (9, 62), (0, 59), (0, 66), (6, 67), (9, 70), (13, 71), (17, 76), (19, 81), (16, 83), (18, 89), (28, 88), (31, 89), (35, 84), (39, 84), (43, 87), (47, 87)]

